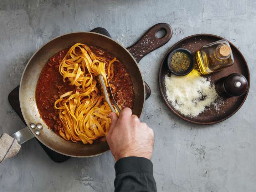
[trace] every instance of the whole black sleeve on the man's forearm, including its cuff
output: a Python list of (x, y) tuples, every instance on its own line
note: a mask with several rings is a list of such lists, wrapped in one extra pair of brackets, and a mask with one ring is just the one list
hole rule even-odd
[(150, 160), (124, 157), (116, 162), (115, 170), (115, 191), (157, 191)]

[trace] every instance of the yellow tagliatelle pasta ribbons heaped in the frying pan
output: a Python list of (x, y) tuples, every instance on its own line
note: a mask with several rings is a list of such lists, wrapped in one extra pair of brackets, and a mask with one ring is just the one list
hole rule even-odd
[[(104, 96), (96, 87), (96, 76), (102, 74), (107, 86), (106, 75), (109, 81), (113, 78), (113, 62), (108, 63), (101, 57), (96, 57), (90, 48), (82, 43), (73, 45), (59, 65), (59, 72), (63, 81), (75, 85), (74, 91), (62, 94), (55, 101), (54, 107), (59, 111), (63, 129), (59, 134), (65, 140), (82, 141), (92, 144), (93, 140), (106, 136), (111, 121), (108, 114), (111, 112)], [(110, 85), (115, 92), (115, 87)], [(117, 111), (117, 110), (116, 110)]]

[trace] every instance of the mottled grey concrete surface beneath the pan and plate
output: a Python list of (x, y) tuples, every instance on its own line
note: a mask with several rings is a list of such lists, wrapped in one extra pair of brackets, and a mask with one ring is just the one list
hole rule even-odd
[[(0, 133), (24, 126), (7, 100), (32, 54), (52, 38), (104, 27), (124, 46), (149, 27), (166, 22), (173, 37), (140, 62), (152, 89), (142, 120), (155, 133), (154, 176), (158, 191), (256, 191), (255, 37), (256, 1), (90, 0), (0, 2)], [(226, 37), (244, 54), (251, 89), (242, 108), (226, 121), (197, 126), (179, 119), (158, 89), (160, 62), (180, 39), (196, 33)], [(113, 191), (110, 152), (53, 162), (35, 139), (0, 164), (0, 191)]]

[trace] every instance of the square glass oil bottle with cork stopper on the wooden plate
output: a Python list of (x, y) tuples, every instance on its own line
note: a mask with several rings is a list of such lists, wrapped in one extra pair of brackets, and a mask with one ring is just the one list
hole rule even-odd
[(200, 73), (203, 75), (220, 71), (234, 63), (232, 50), (227, 40), (204, 45), (196, 51), (195, 57)]

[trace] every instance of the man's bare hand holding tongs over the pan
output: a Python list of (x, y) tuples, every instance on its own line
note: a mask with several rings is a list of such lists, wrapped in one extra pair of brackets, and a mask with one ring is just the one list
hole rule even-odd
[(153, 151), (154, 132), (147, 124), (141, 123), (132, 110), (124, 108), (119, 118), (109, 114), (111, 127), (106, 136), (116, 161), (123, 157), (145, 157), (150, 159)]

